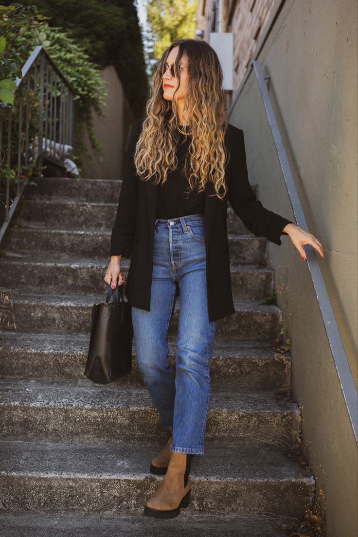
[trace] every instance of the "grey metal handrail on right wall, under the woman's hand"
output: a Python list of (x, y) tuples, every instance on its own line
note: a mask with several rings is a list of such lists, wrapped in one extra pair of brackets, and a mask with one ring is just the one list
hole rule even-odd
[[(299, 201), (297, 188), (288, 162), (286, 150), (284, 149), (279, 126), (277, 125), (271, 99), (268, 95), (268, 89), (265, 83), (265, 79), (269, 78), (269, 76), (264, 77), (264, 75), (262, 74), (260, 63), (257, 60), (252, 61), (252, 66), (259, 84), (261, 98), (265, 106), (268, 123), (271, 128), (277, 156), (279, 157), (280, 161), (282, 175), (287, 187), (289, 200), (295, 215), (297, 226), (308, 231), (307, 222), (303, 213), (301, 201)], [(310, 245), (306, 244), (305, 246)], [(331, 348), (335, 369), (337, 371), (340, 387), (346, 403), (350, 424), (352, 425), (355, 440), (356, 442), (358, 442), (357, 389), (355, 387), (352, 372), (350, 371), (347, 355), (338, 330), (337, 321), (334, 317), (332, 305), (324, 283), (322, 271), (320, 270), (318, 259), (315, 255), (315, 249), (312, 246), (311, 248), (307, 248), (306, 250), (306, 259), (311, 274), (312, 284), (315, 288), (318, 306), (322, 315), (326, 335), (328, 338), (328, 344)]]

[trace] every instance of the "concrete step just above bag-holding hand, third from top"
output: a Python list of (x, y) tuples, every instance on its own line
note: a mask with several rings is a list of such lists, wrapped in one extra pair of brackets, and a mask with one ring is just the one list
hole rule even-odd
[[(254, 235), (228, 235), (230, 260), (238, 264), (267, 263), (267, 240)], [(76, 229), (46, 229), (30, 225), (9, 227), (1, 243), (1, 250), (9, 255), (41, 253), (59, 253), (84, 258), (96, 258), (109, 261), (111, 249), (111, 231)], [(124, 260), (124, 259), (123, 259)]]

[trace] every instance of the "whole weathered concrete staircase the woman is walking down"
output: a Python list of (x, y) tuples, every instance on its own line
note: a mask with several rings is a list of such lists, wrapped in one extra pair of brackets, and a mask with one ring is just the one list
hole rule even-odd
[[(310, 507), (299, 453), (301, 413), (290, 357), (277, 352), (281, 310), (267, 241), (228, 211), (236, 313), (218, 321), (206, 454), (192, 461), (192, 500), (177, 519), (142, 516), (162, 477), (149, 473), (167, 435), (135, 361), (99, 386), (83, 375), (90, 313), (104, 300), (121, 182), (42, 178), (27, 186), (20, 227), (0, 248), (16, 329), (0, 351), (2, 536), (230, 535), (279, 537)], [(113, 200), (115, 202), (113, 203)], [(129, 260), (123, 259), (126, 280)], [(178, 310), (170, 327), (175, 367)]]

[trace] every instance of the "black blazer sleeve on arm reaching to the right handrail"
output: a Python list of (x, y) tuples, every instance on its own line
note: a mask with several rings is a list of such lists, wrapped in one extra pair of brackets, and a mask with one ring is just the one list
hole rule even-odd
[(288, 235), (282, 229), (286, 224), (295, 222), (269, 211), (256, 199), (247, 176), (245, 141), (242, 129), (234, 129), (232, 148), (228, 186), (230, 205), (246, 228), (254, 235), (264, 236), (268, 241), (280, 246), (280, 236), (282, 234)]

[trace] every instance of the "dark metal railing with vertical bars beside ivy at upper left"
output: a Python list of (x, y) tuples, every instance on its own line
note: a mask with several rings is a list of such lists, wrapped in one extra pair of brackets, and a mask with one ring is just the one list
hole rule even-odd
[[(13, 106), (0, 103), (1, 160), (16, 169), (13, 198), (10, 177), (0, 183), (0, 189), (4, 188), (4, 193), (0, 191), (0, 242), (26, 185), (29, 163), (41, 166), (43, 157), (59, 163), (72, 149), (75, 90), (71, 84), (41, 45), (33, 50), (21, 74), (15, 81)], [(38, 120), (35, 129), (34, 117)], [(15, 129), (17, 147), (12, 139)]]

